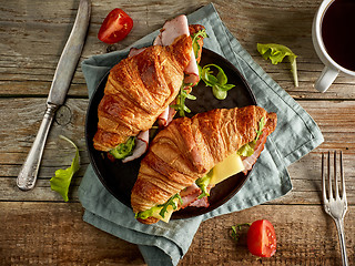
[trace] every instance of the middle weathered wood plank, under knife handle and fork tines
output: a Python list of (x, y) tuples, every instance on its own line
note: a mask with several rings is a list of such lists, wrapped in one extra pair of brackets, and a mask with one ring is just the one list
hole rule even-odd
[[(73, 157), (73, 149), (58, 137), (63, 134), (73, 140), (81, 150), (82, 168), (74, 177), (71, 200), (78, 201), (78, 186), (89, 164), (84, 140), (84, 117), (88, 100), (69, 99), (60, 117), (53, 123), (43, 161), (39, 173), (39, 182), (33, 192), (21, 193), (16, 187), (16, 177), (37, 134), (42, 119), (44, 99), (0, 99), (0, 124), (7, 126), (0, 131), (0, 187), (1, 201), (61, 201), (50, 190), (49, 180), (55, 170), (65, 168)], [(349, 204), (355, 203), (355, 102), (353, 101), (302, 101), (301, 104), (318, 123), (325, 143), (314, 152), (290, 166), (290, 175), (294, 190), (287, 196), (272, 204), (318, 204), (321, 153), (328, 150), (344, 151), (345, 174), (347, 177)], [(329, 109), (332, 105), (332, 109)], [(68, 112), (68, 110), (70, 112)], [(8, 123), (17, 121), (17, 123)], [(13, 134), (13, 132), (17, 132)]]

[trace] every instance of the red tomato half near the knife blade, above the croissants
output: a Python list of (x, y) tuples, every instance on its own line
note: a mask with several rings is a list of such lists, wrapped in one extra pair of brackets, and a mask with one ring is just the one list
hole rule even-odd
[(102, 22), (98, 38), (105, 43), (124, 39), (133, 28), (133, 20), (122, 9), (113, 9)]

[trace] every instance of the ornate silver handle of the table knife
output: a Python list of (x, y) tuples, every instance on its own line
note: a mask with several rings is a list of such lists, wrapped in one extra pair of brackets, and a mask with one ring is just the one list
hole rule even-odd
[(52, 124), (57, 109), (58, 105), (55, 104), (47, 104), (47, 110), (40, 129), (17, 178), (17, 185), (22, 191), (32, 190), (36, 184), (47, 135), (49, 133), (49, 129)]

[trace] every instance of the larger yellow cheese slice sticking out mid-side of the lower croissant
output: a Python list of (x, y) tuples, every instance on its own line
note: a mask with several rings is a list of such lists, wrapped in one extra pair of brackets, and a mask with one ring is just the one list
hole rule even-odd
[(236, 153), (233, 153), (213, 167), (210, 184), (217, 184), (230, 176), (242, 172), (243, 170), (244, 165), (241, 156)]

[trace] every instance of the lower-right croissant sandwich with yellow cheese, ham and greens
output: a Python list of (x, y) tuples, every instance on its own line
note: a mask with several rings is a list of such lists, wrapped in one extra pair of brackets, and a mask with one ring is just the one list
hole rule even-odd
[(209, 206), (216, 183), (252, 168), (276, 121), (275, 113), (254, 105), (173, 120), (141, 162), (131, 194), (138, 221), (169, 222), (173, 211)]

